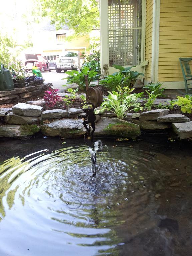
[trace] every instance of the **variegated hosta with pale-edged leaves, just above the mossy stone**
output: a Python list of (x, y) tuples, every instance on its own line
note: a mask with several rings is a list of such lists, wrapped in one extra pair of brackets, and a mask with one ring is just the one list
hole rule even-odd
[(99, 114), (99, 112), (103, 110), (110, 110), (117, 115), (117, 118), (123, 119), (126, 112), (130, 112), (131, 110), (137, 112), (143, 109), (140, 107), (141, 104), (138, 103), (138, 98), (141, 97), (142, 94), (143, 93), (134, 93), (122, 98), (122, 95), (118, 92), (109, 92), (108, 98), (101, 104), (103, 108), (96, 110), (95, 114)]

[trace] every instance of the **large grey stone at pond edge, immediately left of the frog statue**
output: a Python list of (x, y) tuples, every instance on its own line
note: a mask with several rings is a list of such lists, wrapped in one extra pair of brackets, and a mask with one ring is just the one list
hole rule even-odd
[(49, 124), (41, 125), (41, 132), (46, 136), (60, 136), (63, 138), (81, 137), (86, 130), (82, 124), (83, 119), (62, 119)]

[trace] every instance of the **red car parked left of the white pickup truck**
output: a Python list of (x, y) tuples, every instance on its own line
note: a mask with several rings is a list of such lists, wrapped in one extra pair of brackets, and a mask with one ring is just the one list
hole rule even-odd
[(51, 69), (49, 68), (49, 62), (45, 56), (40, 56), (37, 54), (25, 54), (25, 66), (27, 69), (31, 70), (32, 66), (34, 65), (39, 67), (41, 72), (51, 72)]

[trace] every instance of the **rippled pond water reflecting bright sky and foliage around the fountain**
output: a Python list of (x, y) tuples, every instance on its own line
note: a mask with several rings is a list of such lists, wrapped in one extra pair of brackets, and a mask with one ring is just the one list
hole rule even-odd
[[(151, 249), (139, 254), (139, 243), (131, 241), (153, 230), (160, 244), (168, 244), (157, 227), (159, 201), (152, 181), (170, 174), (165, 169), (170, 159), (108, 145), (97, 152), (95, 178), (84, 145), (4, 161), (0, 255), (116, 256), (129, 251), (131, 256), (155, 256)], [(171, 255), (168, 247), (162, 255)]]

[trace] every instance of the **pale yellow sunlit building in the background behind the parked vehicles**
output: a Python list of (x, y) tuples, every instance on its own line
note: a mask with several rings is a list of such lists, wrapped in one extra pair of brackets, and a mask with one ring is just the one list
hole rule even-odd
[[(97, 34), (98, 32), (92, 32)], [(62, 30), (56, 30), (54, 24), (43, 22), (37, 27), (33, 37), (33, 48), (38, 49), (38, 53), (46, 56), (48, 60), (55, 60), (65, 51), (75, 50), (89, 53), (90, 36), (86, 35), (67, 41), (66, 37), (73, 34), (73, 30), (67, 25), (62, 26)]]

